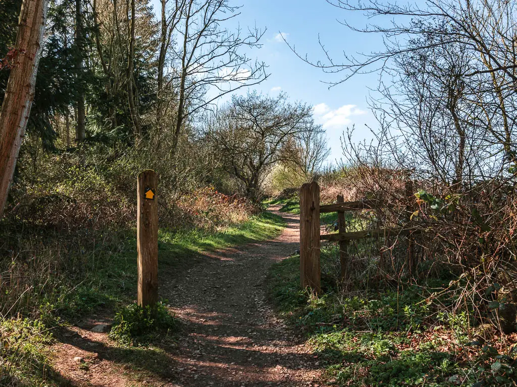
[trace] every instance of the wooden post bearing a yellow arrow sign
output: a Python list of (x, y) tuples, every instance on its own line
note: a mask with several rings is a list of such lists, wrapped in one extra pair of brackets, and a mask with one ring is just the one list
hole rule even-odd
[(138, 304), (141, 307), (158, 302), (158, 177), (153, 170), (138, 175)]

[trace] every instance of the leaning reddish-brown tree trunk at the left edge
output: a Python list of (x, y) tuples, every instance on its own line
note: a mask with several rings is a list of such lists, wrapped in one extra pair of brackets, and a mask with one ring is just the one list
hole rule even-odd
[(34, 86), (47, 21), (48, 0), (24, 0), (20, 12), (18, 53), (0, 110), (0, 216), (4, 213), (16, 160), (34, 99)]

